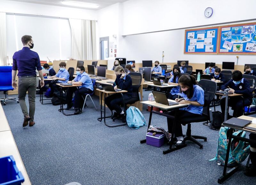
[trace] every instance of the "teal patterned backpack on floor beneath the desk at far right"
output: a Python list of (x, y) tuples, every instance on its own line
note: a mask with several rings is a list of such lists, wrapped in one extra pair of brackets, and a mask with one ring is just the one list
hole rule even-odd
[[(229, 130), (229, 131), (228, 131)], [(219, 142), (216, 157), (210, 159), (209, 161), (216, 160), (218, 165), (224, 166), (226, 153), (228, 149), (228, 132), (231, 129), (229, 127), (221, 127), (219, 133)], [(237, 135), (240, 137), (246, 137), (246, 132), (239, 130), (233, 133), (233, 135)], [(250, 145), (244, 141), (238, 141), (237, 139), (232, 138), (230, 152), (228, 157), (228, 166), (235, 166), (241, 162), (243, 162), (250, 153)]]

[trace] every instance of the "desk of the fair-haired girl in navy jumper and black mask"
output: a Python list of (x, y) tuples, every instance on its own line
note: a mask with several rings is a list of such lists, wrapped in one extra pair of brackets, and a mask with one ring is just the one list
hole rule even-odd
[[(117, 91), (117, 92), (113, 92), (113, 91), (105, 91), (105, 90), (100, 90), (100, 89), (96, 89), (97, 91), (101, 92), (100, 93), (100, 118), (98, 118), (98, 121), (102, 121), (102, 119), (104, 119), (104, 124), (107, 127), (119, 127), (119, 126), (124, 126), (126, 125), (126, 123), (121, 124), (121, 125), (114, 125), (114, 126), (110, 126), (106, 123), (106, 118), (110, 118), (113, 115), (113, 111), (111, 111), (111, 116), (106, 117), (106, 103), (104, 101), (104, 110), (102, 110), (102, 94), (104, 94), (104, 100), (106, 98), (106, 95), (111, 95), (111, 94), (116, 94), (116, 93), (121, 93), (121, 95), (123, 96), (122, 93), (128, 92), (126, 90), (121, 90), (121, 91)], [(124, 106), (125, 109), (125, 106)], [(102, 117), (102, 112), (104, 112), (104, 117)], [(124, 110), (125, 114), (126, 114), (126, 110)]]

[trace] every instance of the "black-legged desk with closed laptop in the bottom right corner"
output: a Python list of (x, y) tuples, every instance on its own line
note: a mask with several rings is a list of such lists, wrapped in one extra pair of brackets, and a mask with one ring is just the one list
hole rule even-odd
[[(246, 120), (252, 120), (254, 119), (253, 117), (250, 117), (250, 116), (240, 116), (238, 117), (240, 119), (246, 119)], [(256, 128), (255, 126), (256, 124), (254, 123), (251, 123), (250, 125), (248, 125), (248, 127), (254, 127)], [(223, 127), (225, 127), (225, 125), (222, 124)], [(240, 136), (235, 136), (233, 135), (233, 131), (234, 130), (243, 130), (243, 131), (246, 131), (246, 132), (249, 132), (249, 133), (253, 133), (253, 134), (256, 134), (255, 131), (252, 131), (252, 130), (248, 130), (248, 129), (245, 129), (245, 128), (238, 128), (238, 127), (232, 127), (232, 126), (228, 126), (231, 130), (229, 132), (229, 135), (228, 135), (228, 141), (231, 141), (232, 138), (235, 138), (235, 139), (238, 139), (239, 141), (244, 141), (244, 142), (248, 142), (248, 143), (256, 143), (255, 140), (251, 140), (251, 139), (247, 139), (247, 138), (243, 138), (243, 137), (240, 137)], [(225, 158), (225, 161), (228, 161), (228, 158), (229, 158), (229, 151), (230, 151), (230, 146), (231, 146), (231, 142), (228, 142), (228, 148), (227, 148), (227, 152), (226, 152), (226, 158)], [(230, 169), (228, 172), (227, 172), (227, 166), (228, 166), (228, 163), (225, 163), (224, 164), (224, 169), (223, 169), (223, 173), (222, 173), (222, 176), (218, 179), (218, 183), (222, 183), (224, 182), (225, 180), (227, 180), (229, 177), (231, 177), (231, 175), (233, 175), (234, 173), (236, 173), (236, 171), (238, 170), (239, 168), (239, 164), (235, 167), (233, 167), (232, 169)]]

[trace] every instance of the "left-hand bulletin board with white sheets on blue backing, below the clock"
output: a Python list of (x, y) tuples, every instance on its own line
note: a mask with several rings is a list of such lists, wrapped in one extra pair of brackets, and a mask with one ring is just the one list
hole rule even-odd
[(184, 54), (217, 54), (219, 27), (185, 30)]

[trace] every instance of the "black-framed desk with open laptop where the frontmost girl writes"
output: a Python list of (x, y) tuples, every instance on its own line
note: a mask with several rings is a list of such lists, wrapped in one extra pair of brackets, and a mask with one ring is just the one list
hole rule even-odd
[[(172, 101), (172, 102), (175, 102), (174, 100), (170, 100), (168, 99), (168, 101)], [(163, 151), (163, 154), (167, 154), (167, 153), (170, 153), (172, 151), (175, 151), (175, 150), (179, 150), (181, 148), (184, 148), (187, 146), (187, 144), (184, 144), (184, 145), (181, 145), (181, 146), (178, 146), (178, 147), (172, 147), (173, 145), (173, 137), (174, 137), (174, 130), (175, 130), (175, 127), (176, 127), (176, 117), (177, 117), (177, 112), (180, 108), (184, 108), (184, 107), (187, 107), (189, 104), (178, 104), (178, 105), (164, 105), (164, 104), (159, 104), (159, 103), (156, 103), (156, 101), (143, 101), (143, 102), (140, 102), (142, 104), (145, 104), (145, 105), (148, 105), (148, 106), (151, 106), (151, 109), (150, 109), (150, 114), (149, 114), (149, 120), (148, 120), (148, 128), (151, 124), (151, 118), (152, 118), (152, 113), (155, 113), (155, 114), (158, 114), (158, 115), (161, 115), (161, 116), (165, 116), (167, 118), (171, 118), (171, 119), (174, 119), (173, 121), (173, 126), (172, 126), (172, 137), (171, 137), (171, 143), (170, 143), (170, 148), (168, 150), (164, 150)], [(158, 112), (158, 111), (153, 111), (153, 107), (157, 107), (157, 108), (160, 108), (160, 109), (163, 109), (163, 110), (175, 110), (175, 113), (174, 113), (174, 116), (170, 115), (170, 114), (167, 114), (167, 113), (161, 113), (161, 112)], [(143, 140), (140, 140), (140, 143), (146, 143), (146, 139), (143, 139)]]

